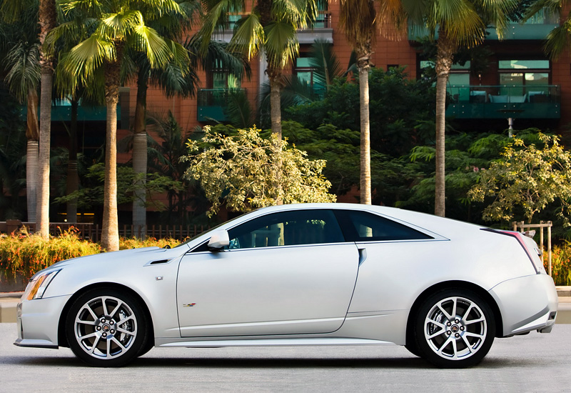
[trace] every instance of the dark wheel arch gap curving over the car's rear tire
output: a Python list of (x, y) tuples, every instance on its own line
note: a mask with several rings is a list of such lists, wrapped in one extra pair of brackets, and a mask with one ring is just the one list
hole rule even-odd
[(502, 313), (500, 312), (500, 307), (497, 306), (495, 299), (487, 292), (485, 289), (480, 287), (477, 284), (472, 282), (465, 282), (465, 281), (446, 281), (440, 282), (438, 284), (434, 284), (431, 287), (425, 289), (418, 297), (415, 299), (413, 303), (413, 307), (410, 307), (410, 312), (408, 313), (408, 319), (406, 323), (406, 341), (409, 342), (410, 339), (413, 337), (413, 328), (414, 328), (414, 318), (418, 313), (418, 309), (422, 304), (423, 300), (429, 297), (432, 294), (437, 292), (443, 291), (445, 289), (468, 289), (472, 292), (475, 292), (479, 297), (487, 302), (492, 309), (495, 319), (495, 337), (503, 337), (503, 321), (502, 321)]

